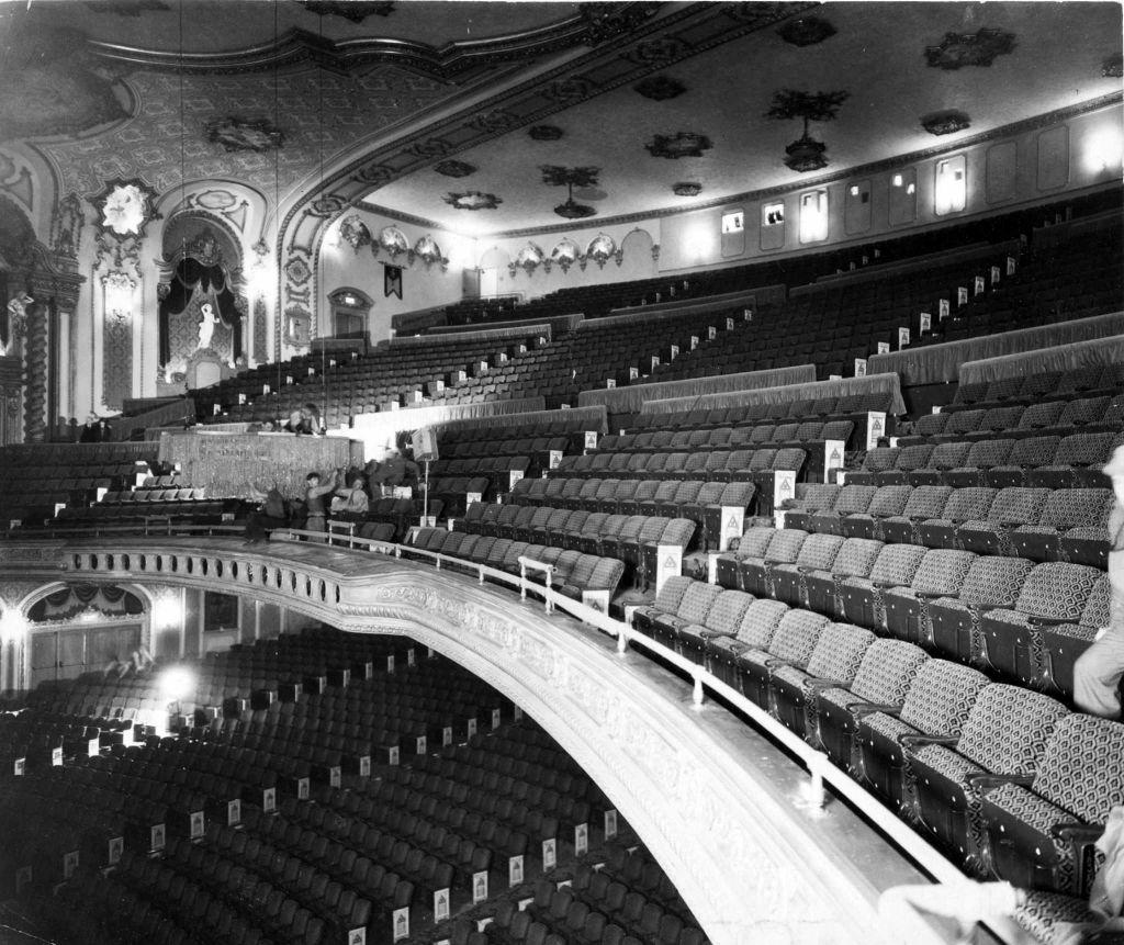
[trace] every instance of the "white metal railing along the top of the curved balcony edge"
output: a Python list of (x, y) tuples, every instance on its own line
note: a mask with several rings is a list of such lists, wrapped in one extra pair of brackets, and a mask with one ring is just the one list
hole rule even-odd
[[(600, 610), (555, 591), (552, 585), (554, 573), (553, 565), (549, 565), (544, 562), (535, 561), (534, 558), (526, 556), (520, 556), (519, 574), (513, 575), (506, 571), (499, 571), (486, 564), (453, 557), (451, 555), (444, 555), (439, 552), (430, 552), (425, 548), (414, 547), (413, 545), (401, 545), (393, 542), (362, 538), (354, 534), (353, 528), (344, 531), (339, 528), (332, 528), (330, 526), (333, 524), (343, 525), (344, 523), (329, 523), (329, 529), (327, 531), (308, 531), (305, 529), (282, 527), (274, 529), (273, 535), (283, 536), (280, 540), (284, 540), (285, 538), (290, 540), (307, 539), (333, 547), (348, 548), (356, 553), (365, 552), (397, 560), (402, 557), (407, 557), (408, 560), (427, 560), (433, 562), (435, 569), (437, 570), (453, 565), (473, 573), (477, 576), (478, 582), (481, 584), (483, 584), (486, 580), (490, 580), (498, 584), (505, 584), (518, 589), (519, 597), (523, 600), (526, 600), (528, 591), (538, 594), (543, 598), (545, 612), (552, 614), (555, 609), (561, 610), (582, 624), (596, 627), (601, 633), (614, 637), (616, 639), (617, 653), (619, 655), (623, 656), (627, 653), (628, 647), (633, 646), (634, 648), (647, 651), (654, 656), (658, 656), (663, 663), (674, 666), (676, 670), (691, 680), (694, 687), (692, 702), (696, 707), (703, 707), (706, 699), (706, 692), (709, 690), (713, 694), (720, 697), (723, 700), (734, 706), (740, 712), (749, 717), (759, 730), (768, 735), (774, 743), (782, 746), (788, 753), (795, 756), (805, 769), (807, 769), (809, 781), (803, 792), (801, 806), (810, 810), (822, 809), (826, 802), (825, 785), (830, 785), (837, 796), (846, 799), (846, 801), (855, 810), (858, 810), (868, 823), (873, 825), (879, 833), (903, 849), (906, 855), (923, 871), (932, 875), (941, 888), (945, 890), (946, 899), (969, 903), (966, 907), (969, 911), (976, 909), (976, 914), (970, 916), (966, 912), (959, 914), (958, 918), (961, 923), (966, 923), (969, 919), (971, 921), (976, 921), (989, 918), (1001, 918), (1001, 915), (995, 916), (982, 910), (987, 908), (998, 908), (998, 905), (1015, 901), (1012, 897), (988, 894), (988, 890), (994, 887), (994, 884), (980, 883), (967, 876), (964, 872), (955, 863), (949, 860), (941, 851), (928, 843), (923, 836), (917, 834), (905, 821), (890, 814), (882, 802), (863, 788), (858, 781), (855, 781), (850, 773), (835, 765), (827, 757), (827, 755), (816, 751), (807, 742), (783, 726), (755, 702), (746, 699), (741, 692), (733, 689), (717, 676), (710, 674), (705, 666), (686, 658), (658, 640), (640, 633), (623, 620), (616, 620)], [(79, 536), (90, 537), (90, 529), (87, 528), (53, 529), (53, 531), (66, 531), (70, 535), (76, 534)], [(100, 531), (101, 534), (136, 535), (137, 529), (135, 526), (132, 528), (128, 526), (116, 526), (101, 528)], [(169, 530), (162, 528), (158, 535), (153, 535), (153, 537), (167, 537), (169, 535), (173, 537), (175, 535), (190, 537), (200, 534), (230, 535), (242, 534), (243, 531), (244, 529), (238, 526), (173, 525)], [(149, 533), (146, 528), (145, 534), (148, 535), (152, 533)], [(42, 533), (34, 533), (34, 535), (20, 534), (15, 537), (31, 538), (45, 536), (43, 536)], [(52, 537), (62, 537), (62, 535), (53, 534)], [(278, 540), (278, 538), (275, 537), (274, 540)], [(250, 549), (247, 553), (253, 553), (253, 551)], [(528, 572), (542, 572), (545, 579), (544, 583), (540, 584), (531, 580)], [(903, 888), (903, 890), (905, 890), (905, 888)], [(891, 896), (890, 893), (892, 892), (894, 890), (891, 889), (883, 894), (885, 905), (880, 908), (883, 908), (885, 912), (894, 912), (896, 915), (900, 914), (903, 909), (907, 908), (903, 905), (905, 902), (908, 902), (908, 908), (915, 912), (930, 911), (927, 908), (928, 903), (924, 899), (915, 901), (916, 897)], [(973, 907), (970, 903), (978, 903), (978, 906)], [(921, 941), (922, 925), (923, 923), (918, 919), (917, 928), (914, 929), (915, 934), (909, 939), (910, 945), (923, 945)], [(995, 930), (994, 925), (992, 930)], [(932, 929), (930, 929), (930, 933), (932, 934)], [(943, 942), (945, 939), (933, 935), (932, 941)], [(1004, 941), (1013, 942), (1014, 939), (1004, 936)]]

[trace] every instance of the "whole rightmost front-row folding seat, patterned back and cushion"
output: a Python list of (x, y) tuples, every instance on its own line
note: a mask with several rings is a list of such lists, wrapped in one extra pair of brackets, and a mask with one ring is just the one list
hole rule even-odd
[(977, 779), (996, 876), (1021, 888), (1087, 894), (1093, 844), (1109, 811), (1124, 805), (1121, 758), (1124, 725), (1073, 714), (1058, 721), (1030, 784)]

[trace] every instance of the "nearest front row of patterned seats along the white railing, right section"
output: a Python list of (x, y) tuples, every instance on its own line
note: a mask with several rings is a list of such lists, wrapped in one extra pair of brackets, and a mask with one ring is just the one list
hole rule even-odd
[[(1084, 892), (1086, 851), (1124, 803), (1118, 723), (905, 640), (686, 578), (669, 580), (636, 626), (771, 711), (970, 869)], [(1071, 837), (1054, 829), (1067, 824)]]

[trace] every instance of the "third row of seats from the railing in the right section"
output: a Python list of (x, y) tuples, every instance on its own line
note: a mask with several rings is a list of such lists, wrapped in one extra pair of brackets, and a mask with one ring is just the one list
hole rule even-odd
[[(1102, 476), (1102, 482), (1104, 478)], [(800, 483), (785, 525), (1033, 561), (1107, 565), (1112, 490)]]

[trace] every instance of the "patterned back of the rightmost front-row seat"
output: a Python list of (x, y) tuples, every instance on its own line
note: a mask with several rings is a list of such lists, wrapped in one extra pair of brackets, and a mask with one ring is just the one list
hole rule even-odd
[(1061, 719), (1033, 790), (1086, 824), (1104, 824), (1124, 805), (1124, 725), (1081, 712)]

